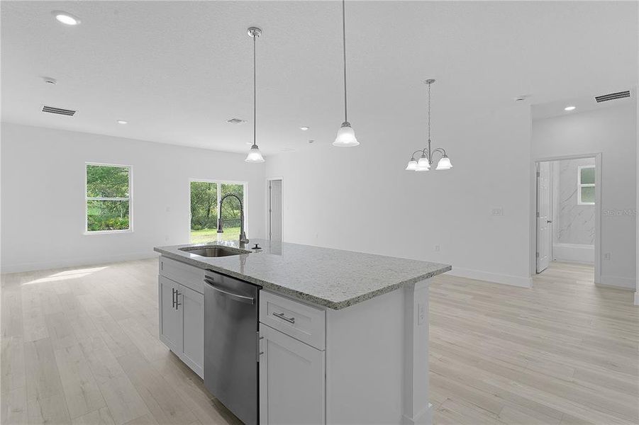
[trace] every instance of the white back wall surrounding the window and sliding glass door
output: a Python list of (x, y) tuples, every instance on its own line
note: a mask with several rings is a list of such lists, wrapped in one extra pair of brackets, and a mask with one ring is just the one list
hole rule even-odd
[[(84, 235), (85, 162), (133, 166), (133, 232)], [(152, 256), (189, 242), (189, 179), (248, 182), (251, 237), (265, 235), (265, 167), (244, 155), (2, 123), (4, 273)]]

